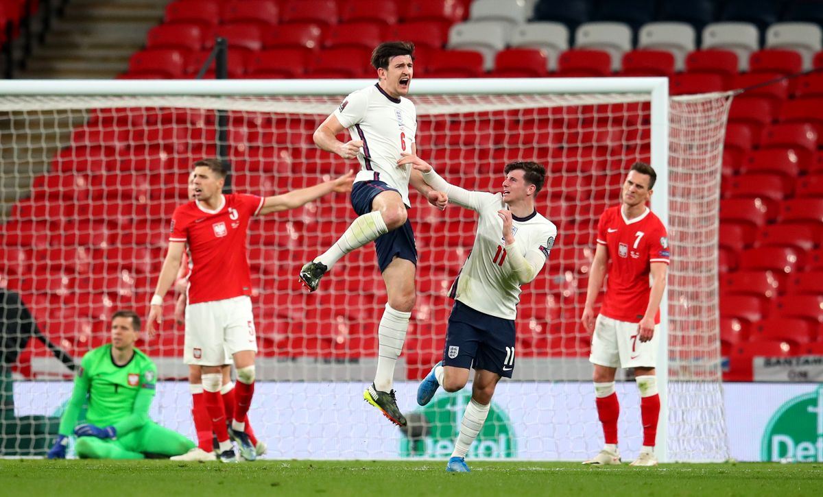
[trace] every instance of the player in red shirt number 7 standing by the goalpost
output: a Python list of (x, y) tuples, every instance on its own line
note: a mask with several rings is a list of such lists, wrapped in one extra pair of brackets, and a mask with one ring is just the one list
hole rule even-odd
[[(592, 353), (597, 415), (603, 425), (606, 445), (584, 464), (620, 464), (617, 450), (617, 417), (620, 404), (615, 392), (618, 367), (634, 368), (640, 391), (643, 448), (632, 466), (657, 466), (654, 439), (657, 436), (660, 397), (654, 377), (657, 363), (660, 300), (666, 289), (669, 262), (666, 227), (646, 203), (657, 179), (652, 167), (635, 162), (623, 183), (621, 205), (600, 216), (597, 250), (588, 276), (584, 327), (594, 332)], [(594, 300), (608, 273), (606, 295), (597, 319)], [(649, 275), (652, 283), (649, 286)]]

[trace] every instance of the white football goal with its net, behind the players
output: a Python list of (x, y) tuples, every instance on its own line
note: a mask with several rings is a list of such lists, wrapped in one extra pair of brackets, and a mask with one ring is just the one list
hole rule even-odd
[[(133, 306), (145, 314), (170, 213), (184, 202), (188, 168), (216, 151), (218, 110), (229, 113), (235, 190), (281, 193), (356, 167), (317, 150), (311, 134), (345, 95), (370, 84), (374, 81), (0, 81), (3, 185), (18, 185), (17, 193), (6, 195), (0, 286), (20, 293), (35, 319), (43, 320), (46, 336), (79, 361), (82, 352), (105, 341), (106, 317), (114, 308)], [(485, 190), (499, 186), (508, 161), (541, 162), (547, 178), (538, 210), (558, 225), (546, 268), (523, 289), (518, 369), (495, 395), (500, 407), (490, 416), (487, 444), (481, 436), (477, 445), (483, 448), (475, 457), (582, 459), (602, 443), (593, 414), (588, 337), (575, 323), (597, 217), (619, 201), (630, 164), (649, 160), (658, 173), (652, 208), (667, 225), (672, 247), (661, 304), (658, 458), (728, 458), (717, 255), (709, 245), (717, 241), (718, 188), (713, 191), (712, 185), (719, 185), (731, 97), (670, 99), (667, 85), (666, 78), (642, 77), (413, 82), (409, 98), (416, 103), (421, 157), (445, 179)], [(31, 188), (25, 184), (29, 177)], [(449, 311), (444, 290), (471, 249), (475, 221), (458, 207), (439, 213), (416, 193), (412, 197), (419, 297), (395, 388), (401, 408), (418, 425), (405, 433), (375, 427), (379, 438), (388, 439), (376, 448), (356, 448), (351, 434), (360, 429), (356, 423), (369, 430), (383, 422), (354, 403), (374, 374), (376, 326), (385, 302), (373, 249), (346, 256), (330, 275), (328, 290), (317, 295), (304, 295), (293, 285), (295, 267), (322, 252), (353, 218), (346, 199), (321, 199), (250, 228), (261, 341), (258, 379), (271, 382), (258, 389), (250, 419), (258, 433), (277, 437), (274, 445), (281, 448), (272, 457), (335, 458), (324, 447), (337, 447), (336, 439), (343, 440), (337, 458), (440, 457), (443, 439), (459, 425), (458, 407), (467, 389), (451, 403), (447, 396), (435, 397), (443, 400), (434, 411), (420, 410), (413, 399), (421, 375), (442, 352)], [(182, 337), (175, 329), (138, 345), (156, 360), (162, 379), (186, 377), (177, 356)], [(66, 386), (41, 380), (68, 379), (68, 371), (35, 345), (21, 351), (18, 362), (18, 411), (58, 412)], [(633, 383), (618, 388), (627, 396), (621, 397), (625, 456), (639, 449)], [(179, 383), (165, 383), (154, 414), (170, 428), (193, 434), (187, 392)], [(338, 397), (342, 392), (345, 398)], [(328, 396), (341, 407), (312, 418), (300, 402), (282, 406), (272, 398), (277, 395)], [(317, 431), (321, 422), (337, 425), (337, 431)], [(309, 434), (311, 443), (305, 440)]]

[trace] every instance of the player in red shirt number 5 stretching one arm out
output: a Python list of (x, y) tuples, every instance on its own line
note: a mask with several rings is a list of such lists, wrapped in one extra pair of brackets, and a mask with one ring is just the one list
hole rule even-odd
[[(254, 392), (254, 355), (257, 337), (252, 314), (251, 275), (246, 258), (246, 230), (252, 216), (286, 211), (328, 193), (351, 191), (354, 174), (294, 190), (273, 197), (242, 193), (221, 193), (228, 171), (220, 160), (194, 163), (194, 200), (177, 207), (171, 221), (169, 251), (166, 253), (151, 311), (146, 319), (153, 337), (163, 323), (163, 297), (174, 283), (180, 259), (188, 244), (190, 266), (188, 304), (185, 310), (184, 362), (199, 365), (202, 371), (203, 399), (212, 429), (220, 444), (219, 459), (235, 462), (229, 436), (239, 445), (247, 460), (256, 451), (245, 433), (245, 417)], [(226, 411), (221, 401), (221, 365), (225, 354), (234, 357), (237, 373), (234, 419), (226, 426)]]

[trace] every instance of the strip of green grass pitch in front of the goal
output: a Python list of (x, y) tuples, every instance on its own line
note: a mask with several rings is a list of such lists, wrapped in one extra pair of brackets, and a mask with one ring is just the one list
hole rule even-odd
[(0, 495), (821, 495), (823, 463), (663, 464), (592, 468), (577, 462), (0, 460)]

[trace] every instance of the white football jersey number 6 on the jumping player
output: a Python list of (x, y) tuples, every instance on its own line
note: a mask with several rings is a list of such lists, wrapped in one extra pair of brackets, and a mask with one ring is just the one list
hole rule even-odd
[(415, 142), (417, 111), (412, 100), (394, 99), (375, 84), (348, 95), (334, 115), (348, 128), (352, 140), (363, 141), (355, 181), (383, 181), (397, 188), (403, 203), (410, 206), (412, 166), (398, 167), (398, 160), (402, 152), (412, 152)]

